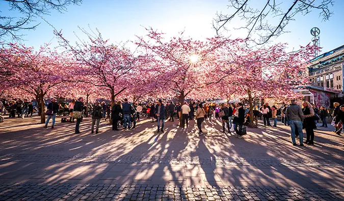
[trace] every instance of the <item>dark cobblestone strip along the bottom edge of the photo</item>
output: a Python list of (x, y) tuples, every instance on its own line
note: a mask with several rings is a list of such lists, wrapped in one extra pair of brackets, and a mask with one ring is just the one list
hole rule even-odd
[[(30, 197), (30, 198), (29, 198)], [(343, 200), (339, 189), (39, 184), (0, 186), (0, 200)]]

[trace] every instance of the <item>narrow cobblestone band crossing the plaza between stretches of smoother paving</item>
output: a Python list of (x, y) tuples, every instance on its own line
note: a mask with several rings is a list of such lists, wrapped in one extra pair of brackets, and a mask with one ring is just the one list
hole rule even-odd
[(66, 163), (149, 163), (149, 164), (216, 164), (253, 166), (294, 166), (294, 167), (342, 167), (343, 160), (304, 160), (304, 159), (232, 159), (200, 157), (135, 157), (135, 156), (66, 156), (44, 154), (7, 154), (0, 161), (18, 162), (66, 162)]

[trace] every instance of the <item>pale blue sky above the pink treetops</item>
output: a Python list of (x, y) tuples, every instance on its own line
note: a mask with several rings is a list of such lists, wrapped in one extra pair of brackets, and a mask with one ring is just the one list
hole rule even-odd
[[(251, 1), (259, 4), (263, 0)], [(284, 2), (293, 2), (285, 0)], [(3, 15), (7, 13), (5, 1), (0, 2)], [(306, 16), (298, 15), (296, 21), (290, 22), (287, 31), (272, 43), (283, 42), (289, 44), (289, 49), (298, 48), (299, 45), (306, 45), (311, 41), (310, 29), (317, 26), (321, 30), (320, 45), (323, 52), (334, 49), (344, 44), (344, 28), (341, 25), (344, 19), (344, 1), (336, 0), (332, 8), (334, 15), (329, 21), (322, 22), (319, 13), (311, 12)], [(104, 39), (110, 39), (112, 43), (135, 40), (136, 36), (146, 34), (144, 27), (153, 27), (165, 32), (168, 36), (176, 35), (185, 30), (187, 36), (194, 39), (212, 37), (216, 34), (211, 26), (211, 21), (216, 12), (229, 12), (226, 0), (84, 0), (81, 6), (69, 6), (68, 11), (61, 14), (51, 12), (44, 18), (54, 25), (57, 30), (63, 30), (64, 36), (69, 41), (76, 41), (74, 32), (81, 38), (84, 35), (78, 31), (77, 26), (98, 28)], [(57, 46), (52, 28), (42, 19), (37, 18), (36, 22), (41, 23), (34, 31), (24, 31), (22, 34), (23, 43), (27, 46), (39, 47), (43, 43), (51, 41), (52, 46)], [(235, 20), (229, 26), (238, 26), (243, 22)], [(225, 33), (232, 38), (244, 37), (243, 31)]]

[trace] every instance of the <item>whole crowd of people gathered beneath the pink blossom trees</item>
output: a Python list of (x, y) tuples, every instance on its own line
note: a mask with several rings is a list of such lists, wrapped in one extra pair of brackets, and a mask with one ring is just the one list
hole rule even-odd
[[(335, 126), (335, 131), (338, 135), (342, 131), (342, 122), (344, 121), (344, 105), (339, 106), (339, 103), (334, 103), (335, 109), (332, 116), (334, 117), (332, 124)], [(33, 103), (27, 99), (18, 101), (0, 101), (0, 114), (9, 114), (9, 118), (32, 117), (37, 108)], [(189, 126), (189, 121), (195, 120), (197, 122), (198, 134), (202, 135), (202, 123), (206, 121), (220, 120), (222, 122), (222, 132), (231, 133), (234, 131), (236, 137), (242, 138), (243, 126), (250, 124), (250, 108), (243, 103), (204, 103), (200, 101), (190, 101), (180, 104), (173, 101), (163, 102), (159, 99), (156, 102), (148, 103), (129, 103), (127, 99), (124, 102), (115, 101), (112, 106), (104, 101), (96, 101), (94, 104), (89, 104), (88, 107), (84, 104), (82, 97), (72, 99), (69, 104), (57, 103), (55, 98), (46, 107), (45, 114), (47, 119), (44, 127), (47, 128), (49, 121), (52, 120), (51, 129), (54, 129), (56, 116), (68, 116), (68, 122), (75, 122), (75, 133), (81, 133), (80, 124), (85, 116), (86, 110), (92, 116), (91, 133), (99, 133), (100, 120), (110, 120), (112, 130), (119, 130), (122, 126), (125, 130), (136, 128), (136, 122), (140, 121), (140, 117), (148, 118), (151, 122), (157, 123), (156, 132), (164, 132), (165, 121), (174, 122), (175, 119), (181, 120), (179, 126), (184, 128)], [(269, 106), (269, 103), (263, 104), (259, 108), (253, 109), (253, 125), (258, 126), (258, 118), (263, 120), (264, 126), (277, 127), (277, 116), (281, 116), (281, 122), (285, 126), (290, 126), (293, 145), (296, 145), (296, 138), (300, 138), (300, 146), (303, 143), (303, 129), (306, 131), (306, 144), (314, 144), (314, 129), (316, 129), (316, 122), (322, 120), (321, 127), (327, 127), (326, 119), (329, 116), (328, 110), (322, 106), (319, 109), (314, 104), (307, 101), (302, 102), (302, 107), (297, 104), (296, 100), (292, 100), (290, 104), (284, 104), (280, 108), (275, 105)], [(270, 123), (270, 120), (273, 121)], [(233, 127), (233, 130), (231, 130)]]

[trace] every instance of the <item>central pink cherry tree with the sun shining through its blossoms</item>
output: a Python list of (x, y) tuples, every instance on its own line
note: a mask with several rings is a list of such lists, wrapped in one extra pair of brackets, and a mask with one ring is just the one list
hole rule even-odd
[[(146, 71), (153, 72), (155, 86), (161, 98), (205, 97), (207, 85), (220, 82), (234, 72), (226, 59), (226, 52), (241, 39), (209, 38), (204, 41), (186, 38), (183, 33), (170, 40), (164, 34), (147, 29), (146, 37), (139, 37), (137, 44), (152, 57)], [(226, 74), (222, 66), (227, 65)]]

